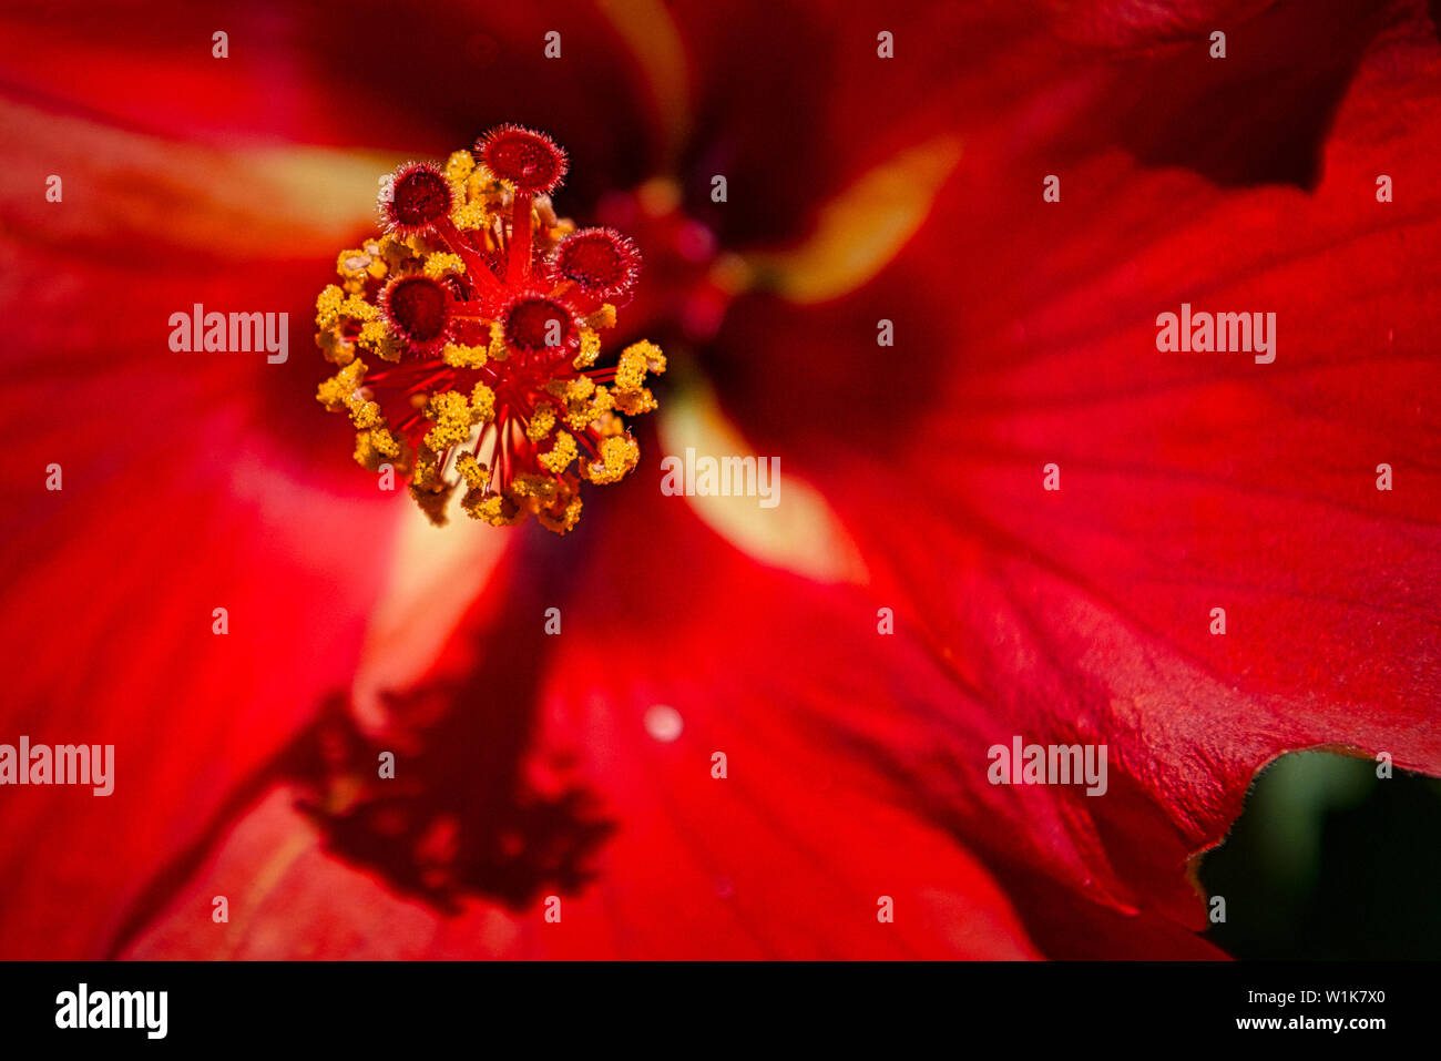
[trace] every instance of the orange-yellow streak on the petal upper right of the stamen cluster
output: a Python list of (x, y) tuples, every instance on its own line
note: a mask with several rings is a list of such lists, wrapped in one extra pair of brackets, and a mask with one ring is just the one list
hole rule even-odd
[(856, 290), (921, 229), (960, 157), (961, 143), (953, 136), (902, 151), (831, 199), (804, 244), (752, 254), (749, 264), (771, 274), (775, 290), (795, 303)]

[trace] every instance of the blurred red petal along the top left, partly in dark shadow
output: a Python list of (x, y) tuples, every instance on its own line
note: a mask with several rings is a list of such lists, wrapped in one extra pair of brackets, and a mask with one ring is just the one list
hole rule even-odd
[[(223, 17), (183, 3), (62, 4), (0, 25), (13, 88), (170, 136), (445, 153), (519, 115), (575, 154), (578, 197), (638, 180), (646, 151), (659, 153), (644, 124), (641, 143), (597, 136), (646, 112), (644, 71), (589, 3), (362, 0)], [(218, 30), (229, 58), (212, 55)], [(561, 59), (545, 53), (552, 30)]]

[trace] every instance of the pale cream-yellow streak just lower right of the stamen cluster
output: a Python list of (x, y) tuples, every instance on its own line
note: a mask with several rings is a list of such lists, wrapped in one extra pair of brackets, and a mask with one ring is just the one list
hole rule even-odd
[[(699, 383), (673, 391), (661, 404), (657, 430), (664, 454), (683, 456), (690, 447), (702, 457), (759, 454)], [(712, 530), (762, 564), (817, 582), (866, 582), (860, 549), (821, 493), (778, 466), (775, 507), (758, 497), (690, 497), (686, 500)]]

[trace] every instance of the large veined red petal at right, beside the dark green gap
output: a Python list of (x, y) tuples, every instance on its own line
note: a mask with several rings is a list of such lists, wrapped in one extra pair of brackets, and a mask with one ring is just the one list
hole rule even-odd
[[(818, 428), (844, 385), (813, 376), (811, 408), (769, 422), (882, 594), (908, 603), (904, 623), (984, 705), (978, 721), (960, 698), (937, 711), (960, 765), (916, 778), (987, 855), (1200, 927), (1186, 859), (1223, 836), (1271, 757), (1339, 745), (1441, 773), (1441, 369), (1427, 355), (1441, 111), (1415, 89), (1438, 68), (1424, 26), (1376, 50), (1314, 195), (1218, 192), (1108, 154), (1078, 160), (1062, 202), (1042, 205), (1039, 176), (1016, 173), (1043, 160), (971, 156), (932, 223), (954, 235), (947, 259), (927, 259), (922, 235), (863, 298), (806, 316), (810, 334), (855, 337), (826, 343), (839, 366), (863, 363), (867, 314), (896, 320), (895, 352), (869, 358), (882, 408), (909, 402), (909, 418), (878, 418), (846, 456)], [(1378, 203), (1378, 173), (1405, 196)], [(927, 317), (927, 291), (958, 304)], [(1159, 353), (1156, 314), (1182, 301), (1275, 311), (1275, 363)], [(932, 385), (942, 308), (950, 378)], [(782, 316), (748, 307), (720, 342), (765, 349), (746, 332), (778, 334)], [(919, 392), (893, 398), (916, 359)], [(751, 396), (732, 392), (748, 428), (768, 422), (746, 415)], [(1059, 493), (1042, 490), (1048, 461)], [(1376, 490), (1380, 463), (1393, 492)], [(1017, 734), (1105, 742), (1111, 791), (987, 786), (983, 750)]]

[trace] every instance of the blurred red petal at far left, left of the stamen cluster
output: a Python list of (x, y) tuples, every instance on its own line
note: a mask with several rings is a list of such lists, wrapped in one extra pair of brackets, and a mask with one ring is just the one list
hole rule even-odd
[[(4, 114), (19, 140), (6, 156), (30, 187), (7, 199), (0, 288), (0, 741), (114, 744), (115, 778), (107, 797), (7, 790), (0, 950), (95, 957), (154, 868), (347, 680), (396, 509), (363, 473), (337, 471), (349, 432), (316, 408), (305, 355), (324, 277), (265, 244), (282, 218), (236, 223), (254, 205), (218, 192), (220, 163), (245, 157), (212, 156), (202, 174), (192, 148), (52, 117), (68, 183), (48, 203), (27, 138), (43, 120)], [(137, 185), (140, 161), (159, 167)], [(256, 172), (245, 190), (275, 189)], [(226, 223), (231, 242), (212, 241)], [(297, 247), (314, 226), (291, 223)], [(333, 254), (337, 232), (324, 238)], [(290, 360), (171, 352), (170, 314), (193, 303), (288, 311)], [(225, 636), (212, 633), (219, 607)]]

